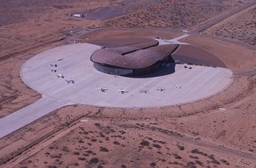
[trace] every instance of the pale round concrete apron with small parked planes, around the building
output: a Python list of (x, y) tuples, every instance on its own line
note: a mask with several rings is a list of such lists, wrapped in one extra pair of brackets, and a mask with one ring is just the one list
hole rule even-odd
[[(101, 46), (59, 46), (30, 58), (21, 70), (22, 80), (45, 97), (91, 106), (155, 107), (194, 102), (230, 85), (232, 72), (225, 68), (176, 65), (174, 74), (153, 78), (126, 78), (94, 69), (90, 55)], [(58, 61), (58, 58), (63, 58)], [(58, 66), (51, 72), (50, 64)], [(62, 74), (64, 78), (58, 78)], [(73, 79), (74, 84), (65, 79)], [(106, 88), (106, 92), (98, 88)], [(159, 91), (159, 88), (165, 90)], [(127, 90), (121, 94), (118, 90)], [(141, 93), (140, 90), (148, 90)]]

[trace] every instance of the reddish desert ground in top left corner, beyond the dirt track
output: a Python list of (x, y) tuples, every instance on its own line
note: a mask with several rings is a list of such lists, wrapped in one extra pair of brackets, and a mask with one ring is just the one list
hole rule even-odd
[[(90, 6), (88, 6), (88, 4)], [(66, 30), (89, 26), (95, 22), (88, 19), (70, 17), (78, 10), (96, 9), (108, 6), (108, 1), (90, 2), (75, 0), (72, 2), (2, 2), (0, 19), (0, 55), (10, 54), (43, 42), (66, 35)], [(8, 10), (12, 8), (15, 10)], [(32, 18), (31, 18), (32, 17)]]

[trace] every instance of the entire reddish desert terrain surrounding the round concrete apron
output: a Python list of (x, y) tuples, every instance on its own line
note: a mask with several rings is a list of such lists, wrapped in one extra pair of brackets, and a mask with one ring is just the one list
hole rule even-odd
[[(2, 1), (0, 118), (41, 98), (20, 78), (35, 54), (74, 39), (175, 38), (246, 2)], [(106, 20), (69, 15), (107, 6), (127, 14)], [(181, 40), (217, 55), (234, 72), (226, 90), (180, 106), (62, 107), (1, 138), (0, 166), (256, 167), (254, 13), (251, 6)]]

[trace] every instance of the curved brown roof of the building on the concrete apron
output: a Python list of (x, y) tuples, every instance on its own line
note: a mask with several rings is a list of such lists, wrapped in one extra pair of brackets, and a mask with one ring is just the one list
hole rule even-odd
[[(97, 62), (103, 65), (115, 66), (126, 69), (142, 69), (154, 65), (154, 63), (166, 58), (173, 52), (178, 45), (170, 44), (163, 46), (154, 46), (145, 50), (140, 47), (134, 52), (127, 54), (127, 46), (116, 48), (105, 48), (96, 50), (91, 56), (92, 62)], [(134, 50), (133, 48), (133, 50)], [(130, 49), (129, 49), (130, 50)]]

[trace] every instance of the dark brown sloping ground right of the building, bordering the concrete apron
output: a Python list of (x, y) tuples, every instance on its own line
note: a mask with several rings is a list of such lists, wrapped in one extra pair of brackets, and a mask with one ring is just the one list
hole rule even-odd
[(175, 61), (201, 66), (218, 66), (226, 68), (225, 64), (214, 54), (202, 50), (196, 46), (180, 45), (178, 50), (171, 54)]

